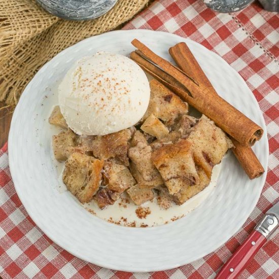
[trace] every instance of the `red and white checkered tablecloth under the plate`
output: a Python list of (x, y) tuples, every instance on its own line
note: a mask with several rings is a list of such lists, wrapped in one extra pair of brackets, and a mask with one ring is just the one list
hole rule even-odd
[[(179, 268), (129, 273), (82, 261), (53, 243), (27, 215), (11, 180), (8, 150), (0, 151), (0, 275), (6, 278), (214, 278), (268, 208), (279, 200), (279, 16), (255, 3), (218, 14), (201, 0), (161, 0), (124, 29), (146, 28), (190, 38), (222, 56), (245, 79), (263, 112), (269, 164), (261, 198), (236, 235), (204, 258)], [(257, 253), (239, 278), (279, 278), (279, 233)]]

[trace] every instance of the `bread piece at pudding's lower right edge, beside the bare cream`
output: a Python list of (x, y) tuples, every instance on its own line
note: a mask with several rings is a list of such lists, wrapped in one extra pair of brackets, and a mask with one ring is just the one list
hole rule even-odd
[(173, 195), (173, 200), (177, 204), (183, 204), (189, 198), (201, 192), (208, 184), (210, 184), (210, 179), (206, 176), (205, 171), (202, 168), (197, 168), (199, 182), (195, 185), (185, 185), (182, 189)]

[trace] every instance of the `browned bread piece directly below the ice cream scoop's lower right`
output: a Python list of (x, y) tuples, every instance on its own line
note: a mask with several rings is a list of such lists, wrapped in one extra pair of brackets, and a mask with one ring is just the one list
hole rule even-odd
[(131, 135), (131, 130), (125, 129), (116, 133), (96, 136), (93, 140), (94, 156), (103, 160), (114, 158), (118, 163), (128, 166), (127, 152)]

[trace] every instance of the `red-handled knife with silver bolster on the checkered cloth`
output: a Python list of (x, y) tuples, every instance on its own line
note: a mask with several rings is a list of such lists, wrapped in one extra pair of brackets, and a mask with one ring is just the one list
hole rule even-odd
[(237, 278), (278, 226), (279, 202), (267, 211), (261, 222), (225, 263), (215, 279)]

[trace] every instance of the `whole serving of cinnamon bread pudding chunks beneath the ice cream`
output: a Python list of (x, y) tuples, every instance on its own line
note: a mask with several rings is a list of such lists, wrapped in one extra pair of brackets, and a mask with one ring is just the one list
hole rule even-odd
[(136, 205), (156, 197), (166, 210), (201, 192), (212, 169), (233, 145), (213, 121), (188, 114), (188, 104), (157, 80), (134, 126), (106, 135), (78, 135), (56, 106), (49, 123), (63, 130), (52, 138), (56, 160), (65, 161), (63, 182), (81, 203), (104, 210), (123, 197)]

